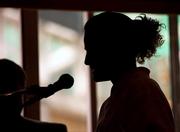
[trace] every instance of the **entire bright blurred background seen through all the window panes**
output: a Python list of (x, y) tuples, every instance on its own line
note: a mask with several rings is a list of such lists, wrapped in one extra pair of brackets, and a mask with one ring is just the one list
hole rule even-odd
[[(133, 19), (139, 15), (139, 13), (125, 14)], [(144, 66), (151, 69), (151, 77), (159, 82), (172, 105), (168, 15), (147, 14), (147, 16), (160, 20), (166, 28), (162, 30), (164, 45)], [(0, 58), (9, 58), (22, 65), (20, 10), (1, 8), (0, 18)], [(71, 74), (75, 80), (71, 89), (58, 91), (41, 100), (40, 119), (64, 123), (68, 132), (87, 132), (90, 118), (90, 79), (89, 69), (84, 65), (83, 46), (83, 25), (87, 20), (87, 14), (77, 11), (39, 10), (38, 19), (40, 85), (47, 86), (54, 83), (64, 73)], [(109, 96), (111, 86), (108, 81), (97, 83), (97, 112), (102, 102)]]

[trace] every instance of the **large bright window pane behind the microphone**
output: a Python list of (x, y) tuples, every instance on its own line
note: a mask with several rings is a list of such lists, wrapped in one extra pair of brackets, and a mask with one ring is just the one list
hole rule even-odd
[(63, 123), (68, 132), (87, 131), (88, 69), (84, 65), (83, 12), (39, 12), (40, 85), (64, 74), (74, 77), (71, 89), (41, 101), (41, 120)]

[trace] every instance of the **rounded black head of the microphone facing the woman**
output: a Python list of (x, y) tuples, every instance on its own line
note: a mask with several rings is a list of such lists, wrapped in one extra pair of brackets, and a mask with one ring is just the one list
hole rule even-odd
[(54, 84), (56, 87), (68, 89), (74, 84), (74, 78), (69, 74), (63, 74), (60, 76), (59, 80)]

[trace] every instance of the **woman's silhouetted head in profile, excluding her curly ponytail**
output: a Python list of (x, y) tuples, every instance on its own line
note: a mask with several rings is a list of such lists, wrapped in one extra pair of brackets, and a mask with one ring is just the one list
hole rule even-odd
[(132, 20), (120, 13), (105, 12), (88, 20), (84, 29), (85, 64), (95, 81), (112, 80), (135, 56), (129, 48)]

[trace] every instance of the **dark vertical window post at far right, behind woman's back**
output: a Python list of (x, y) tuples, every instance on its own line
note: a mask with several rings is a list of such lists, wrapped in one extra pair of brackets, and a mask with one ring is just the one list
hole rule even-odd
[(179, 47), (178, 47), (178, 19), (176, 14), (169, 15), (170, 26), (170, 61), (171, 83), (173, 97), (173, 112), (176, 132), (180, 131), (180, 78), (179, 78)]

